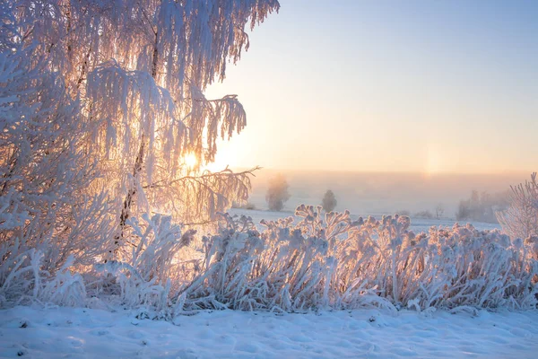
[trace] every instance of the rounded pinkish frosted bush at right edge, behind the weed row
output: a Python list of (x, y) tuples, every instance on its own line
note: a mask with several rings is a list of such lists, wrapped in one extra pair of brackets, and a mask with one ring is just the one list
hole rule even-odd
[(510, 206), (497, 213), (504, 232), (516, 239), (538, 236), (538, 182), (536, 172), (530, 181), (511, 186)]

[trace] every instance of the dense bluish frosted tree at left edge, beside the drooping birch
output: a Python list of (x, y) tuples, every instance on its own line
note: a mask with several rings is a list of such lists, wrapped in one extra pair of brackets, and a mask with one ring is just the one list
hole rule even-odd
[(105, 197), (87, 192), (97, 173), (80, 101), (23, 43), (32, 23), (15, 10), (0, 4), (0, 305), (37, 295), (41, 276), (68, 263), (91, 263), (109, 228)]

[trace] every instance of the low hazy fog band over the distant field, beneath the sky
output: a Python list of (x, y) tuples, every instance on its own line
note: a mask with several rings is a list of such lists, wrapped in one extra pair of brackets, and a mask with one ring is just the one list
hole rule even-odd
[(346, 171), (291, 171), (262, 169), (252, 180), (249, 202), (266, 209), (265, 193), (277, 173), (288, 180), (291, 198), (284, 211), (300, 204), (319, 205), (327, 189), (338, 200), (337, 211), (349, 209), (353, 215), (386, 215), (407, 210), (416, 213), (441, 204), (443, 217), (454, 218), (460, 200), (473, 190), (490, 194), (507, 191), (510, 185), (525, 182), (529, 173), (505, 174), (424, 174)]

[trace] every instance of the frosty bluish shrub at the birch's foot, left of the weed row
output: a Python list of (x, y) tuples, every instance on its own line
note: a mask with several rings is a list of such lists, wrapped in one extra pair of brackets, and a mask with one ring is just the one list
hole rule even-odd
[[(178, 276), (178, 252), (187, 247), (194, 230), (182, 231), (169, 215), (143, 215), (143, 223), (131, 221), (136, 242), (118, 255), (121, 260), (104, 260), (94, 265), (88, 291), (130, 308), (151, 307), (163, 311), (171, 293), (182, 283)], [(172, 292), (171, 292), (172, 291)]]

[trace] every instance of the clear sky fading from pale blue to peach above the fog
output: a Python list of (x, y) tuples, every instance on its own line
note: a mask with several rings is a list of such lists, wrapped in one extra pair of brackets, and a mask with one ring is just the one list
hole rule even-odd
[(247, 110), (219, 165), (538, 170), (538, 1), (281, 5), (208, 91)]

